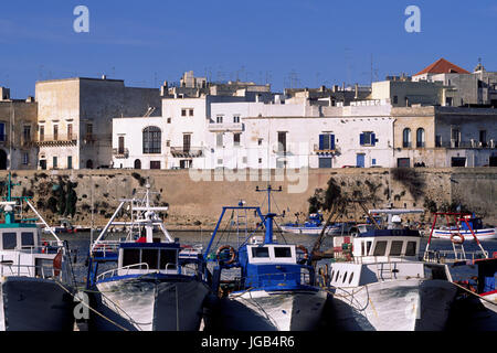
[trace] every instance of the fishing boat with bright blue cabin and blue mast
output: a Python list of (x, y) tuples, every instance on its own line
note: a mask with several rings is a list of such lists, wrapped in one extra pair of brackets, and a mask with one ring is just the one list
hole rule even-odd
[[(243, 202), (237, 206), (223, 206), (204, 253), (204, 258), (210, 259), (214, 239), (228, 238), (219, 229), (229, 211), (256, 214), (258, 226), (252, 232), (245, 227), (237, 249), (226, 244), (215, 252), (212, 290), (221, 293), (221, 298), (213, 309), (210, 328), (220, 331), (313, 330), (321, 318), (327, 292), (316, 286), (307, 249), (276, 240), (273, 234), (276, 214), (271, 212), (273, 190), (268, 186), (262, 191), (268, 194), (267, 214)], [(264, 236), (257, 235), (262, 227)]]

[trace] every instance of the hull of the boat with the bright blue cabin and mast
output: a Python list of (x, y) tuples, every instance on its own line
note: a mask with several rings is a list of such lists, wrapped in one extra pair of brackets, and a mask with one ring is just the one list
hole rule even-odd
[(214, 330), (310, 331), (319, 323), (327, 293), (251, 290), (219, 302)]

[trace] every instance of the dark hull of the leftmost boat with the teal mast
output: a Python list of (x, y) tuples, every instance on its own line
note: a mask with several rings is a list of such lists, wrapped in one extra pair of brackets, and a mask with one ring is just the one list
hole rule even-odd
[(73, 331), (71, 289), (50, 279), (3, 277), (0, 281), (1, 331)]

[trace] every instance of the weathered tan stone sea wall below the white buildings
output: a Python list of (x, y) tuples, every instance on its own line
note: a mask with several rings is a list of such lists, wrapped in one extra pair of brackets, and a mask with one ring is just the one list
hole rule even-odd
[[(74, 183), (77, 201), (73, 224), (91, 224), (93, 199), (94, 224), (104, 225), (118, 200), (131, 197), (149, 182), (160, 193), (155, 196), (158, 204), (169, 204), (166, 220), (169, 227), (198, 229), (200, 222), (205, 229), (214, 227), (223, 205), (236, 205), (240, 200), (247, 205), (261, 205), (262, 211), (266, 211), (265, 194), (255, 192), (255, 188), (265, 188), (267, 174), (265, 171), (253, 172), (258, 172), (252, 175), (253, 181), (229, 181), (229, 175), (223, 175), (222, 171), (218, 174), (209, 171), (204, 178), (208, 180), (194, 181), (188, 170), (13, 171), (12, 176), (15, 183), (21, 183), (14, 186), (13, 195), (33, 195), (34, 204), (51, 224), (57, 224), (62, 217), (51, 211), (60, 203), (57, 185), (67, 185), (68, 181)], [(426, 200), (433, 200), (438, 206), (461, 202), (484, 214), (486, 222), (497, 222), (497, 168), (316, 169), (308, 171), (308, 175), (300, 175), (304, 185), (300, 193), (288, 192), (295, 191), (296, 184), (289, 176), (275, 175), (273, 170), (269, 181), (275, 189), (283, 186), (283, 192), (274, 194), (273, 211), (282, 213), (285, 210), (284, 222), (294, 221), (297, 212), (307, 213), (308, 199), (316, 188), (326, 189), (331, 176), (343, 191), (368, 196), (371, 201), (366, 203), (367, 208), (385, 207), (389, 197), (394, 207), (423, 208)], [(7, 172), (0, 172), (0, 179), (4, 181), (6, 178)], [(275, 181), (275, 178), (283, 181)], [(352, 204), (349, 208), (349, 218), (363, 218), (358, 205)]]

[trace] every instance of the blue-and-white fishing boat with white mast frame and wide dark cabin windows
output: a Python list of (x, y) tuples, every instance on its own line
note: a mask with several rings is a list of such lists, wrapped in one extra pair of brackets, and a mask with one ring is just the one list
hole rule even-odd
[[(144, 197), (123, 200), (92, 244), (87, 290), (97, 314), (88, 328), (101, 331), (197, 331), (209, 295), (201, 250), (173, 239), (159, 217), (168, 207), (151, 205), (150, 185)], [(127, 204), (130, 221), (116, 216)], [(126, 237), (107, 239), (113, 226)], [(109, 268), (99, 272), (99, 266)]]

